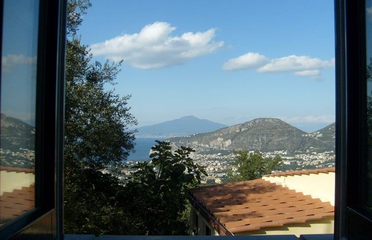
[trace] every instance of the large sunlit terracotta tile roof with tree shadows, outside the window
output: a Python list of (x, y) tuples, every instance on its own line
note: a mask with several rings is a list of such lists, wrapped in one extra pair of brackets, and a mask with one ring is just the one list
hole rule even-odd
[(232, 234), (334, 215), (329, 202), (263, 179), (192, 188), (189, 194), (194, 206), (212, 216), (214, 225)]

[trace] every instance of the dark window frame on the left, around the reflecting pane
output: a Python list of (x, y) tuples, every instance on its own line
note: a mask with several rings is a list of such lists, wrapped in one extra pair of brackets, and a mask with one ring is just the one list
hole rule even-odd
[[(2, 44), (3, 0), (0, 0)], [(63, 239), (63, 115), (66, 0), (39, 0), (35, 123), (35, 208), (0, 239)]]

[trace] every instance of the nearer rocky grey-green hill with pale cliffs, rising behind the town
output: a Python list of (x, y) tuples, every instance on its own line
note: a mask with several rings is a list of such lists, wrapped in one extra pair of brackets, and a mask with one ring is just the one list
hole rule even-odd
[(177, 147), (190, 146), (197, 152), (237, 149), (264, 152), (277, 150), (306, 151), (310, 147), (324, 151), (331, 149), (332, 146), (313, 136), (319, 134), (306, 133), (280, 119), (258, 118), (211, 133), (172, 137), (168, 140)]

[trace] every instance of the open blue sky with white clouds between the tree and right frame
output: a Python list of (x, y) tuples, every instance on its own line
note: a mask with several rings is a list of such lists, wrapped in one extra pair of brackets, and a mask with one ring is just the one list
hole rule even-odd
[(333, 0), (91, 0), (79, 33), (123, 59), (115, 90), (139, 125), (186, 115), (234, 125), (335, 119)]

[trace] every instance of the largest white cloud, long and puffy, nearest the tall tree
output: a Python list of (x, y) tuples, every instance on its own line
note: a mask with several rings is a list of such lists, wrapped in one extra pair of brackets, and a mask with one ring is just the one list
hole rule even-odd
[(140, 33), (124, 34), (91, 46), (94, 55), (118, 61), (140, 69), (164, 68), (186, 63), (193, 58), (213, 53), (224, 42), (214, 42), (215, 28), (205, 32), (185, 32), (171, 36), (176, 28), (169, 23), (146, 25)]

